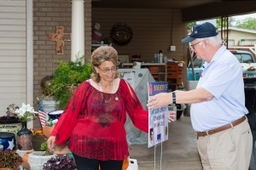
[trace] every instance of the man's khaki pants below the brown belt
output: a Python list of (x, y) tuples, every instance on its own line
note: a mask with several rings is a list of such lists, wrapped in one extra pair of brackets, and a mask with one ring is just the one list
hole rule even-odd
[(248, 170), (253, 135), (245, 120), (223, 132), (199, 137), (197, 147), (204, 170)]

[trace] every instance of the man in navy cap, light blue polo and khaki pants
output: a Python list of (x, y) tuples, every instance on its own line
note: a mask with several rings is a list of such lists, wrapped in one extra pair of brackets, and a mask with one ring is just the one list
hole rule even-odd
[(190, 48), (205, 60), (204, 71), (195, 90), (156, 94), (148, 99), (148, 108), (170, 104), (192, 104), (190, 116), (198, 135), (198, 151), (204, 170), (247, 170), (253, 136), (245, 107), (241, 65), (222, 45), (218, 30), (211, 23), (194, 25)]

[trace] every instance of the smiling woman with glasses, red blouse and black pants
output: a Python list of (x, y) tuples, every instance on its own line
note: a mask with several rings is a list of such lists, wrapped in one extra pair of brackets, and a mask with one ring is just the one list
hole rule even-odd
[(148, 111), (129, 83), (118, 78), (117, 60), (114, 48), (96, 48), (91, 55), (91, 79), (76, 89), (47, 141), (54, 150), (54, 144), (70, 138), (69, 149), (78, 170), (98, 170), (99, 165), (102, 170), (122, 168), (129, 156), (126, 113), (135, 127), (148, 133)]

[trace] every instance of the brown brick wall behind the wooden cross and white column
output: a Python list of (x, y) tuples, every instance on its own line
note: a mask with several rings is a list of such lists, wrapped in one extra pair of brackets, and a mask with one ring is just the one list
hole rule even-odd
[[(64, 54), (56, 54), (55, 42), (48, 40), (49, 33), (55, 33), (56, 26), (64, 26), (65, 33), (72, 32), (71, 0), (33, 0), (33, 58), (34, 58), (34, 106), (37, 110), (37, 96), (42, 95), (40, 81), (50, 76), (57, 64), (55, 60), (68, 61), (71, 59), (71, 42), (64, 42)], [(84, 39), (85, 57), (90, 57), (91, 40), (91, 0), (84, 1)], [(34, 128), (39, 128), (38, 119)]]

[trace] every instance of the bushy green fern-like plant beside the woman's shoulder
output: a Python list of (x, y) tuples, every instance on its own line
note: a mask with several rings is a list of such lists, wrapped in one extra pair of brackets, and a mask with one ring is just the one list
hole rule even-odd
[(58, 61), (59, 66), (55, 68), (53, 81), (49, 86), (49, 94), (60, 101), (60, 109), (65, 109), (75, 88), (79, 83), (90, 78), (92, 65), (83, 63), (84, 56), (76, 56), (75, 61)]

